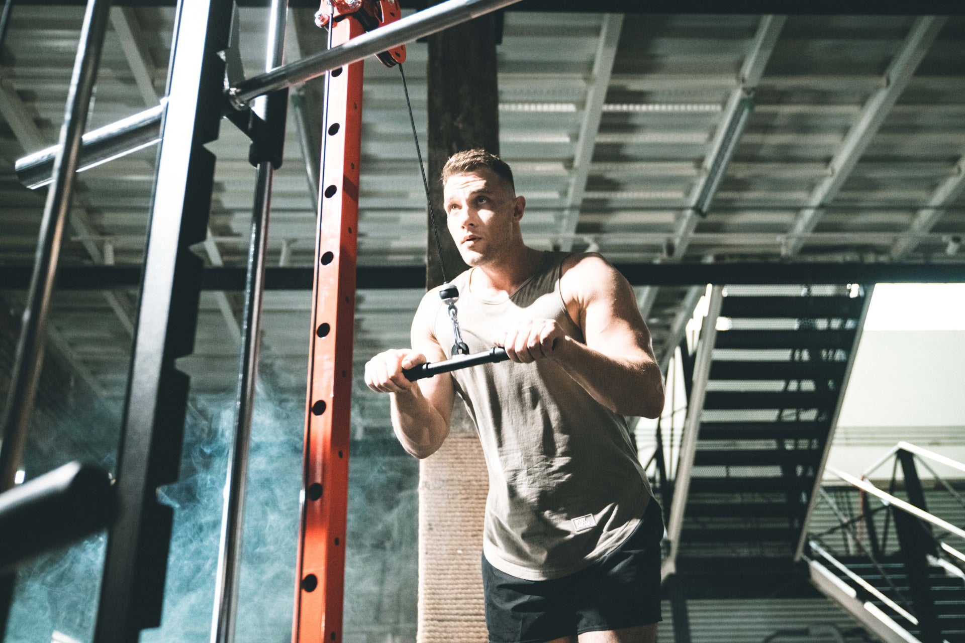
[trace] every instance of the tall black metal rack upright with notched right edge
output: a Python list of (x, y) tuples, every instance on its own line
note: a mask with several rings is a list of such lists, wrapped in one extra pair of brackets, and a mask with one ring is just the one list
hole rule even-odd
[(144, 277), (118, 459), (118, 516), (109, 530), (96, 643), (136, 641), (160, 624), (173, 510), (157, 500), (178, 479), (204, 241), (214, 180), (232, 0), (181, 2), (168, 74)]

